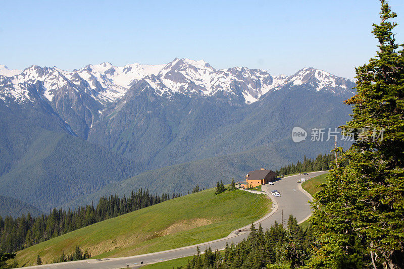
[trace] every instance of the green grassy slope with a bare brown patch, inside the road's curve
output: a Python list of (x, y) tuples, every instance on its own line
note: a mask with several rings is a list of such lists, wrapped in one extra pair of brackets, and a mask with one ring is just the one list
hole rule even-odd
[(270, 200), (241, 190), (192, 193), (53, 238), (17, 253), (20, 265), (39, 254), (51, 262), (76, 245), (94, 258), (130, 256), (197, 244), (227, 236), (264, 216)]

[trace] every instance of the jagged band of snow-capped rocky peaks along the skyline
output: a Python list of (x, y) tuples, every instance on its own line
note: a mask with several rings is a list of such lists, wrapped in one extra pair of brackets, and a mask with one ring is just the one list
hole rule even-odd
[[(0, 99), (8, 102), (32, 100), (32, 88), (53, 102), (63, 89), (85, 93), (101, 106), (121, 99), (136, 82), (144, 81), (160, 96), (174, 92), (214, 96), (219, 92), (253, 103), (269, 91), (284, 86), (303, 86), (335, 95), (351, 94), (351, 80), (322, 70), (304, 68), (291, 76), (272, 76), (261, 69), (234, 67), (216, 70), (203, 60), (174, 59), (166, 65), (130, 64), (116, 67), (110, 63), (88, 65), (65, 71), (57, 67), (33, 65), (23, 71), (0, 65)], [(36, 93), (35, 93), (36, 94)]]

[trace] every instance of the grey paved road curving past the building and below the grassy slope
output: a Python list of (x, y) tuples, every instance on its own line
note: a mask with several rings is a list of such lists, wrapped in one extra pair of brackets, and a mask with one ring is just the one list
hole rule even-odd
[[(315, 176), (319, 176), (321, 174), (327, 173), (326, 171), (322, 172), (313, 172), (309, 173), (308, 176), (289, 176), (285, 177), (281, 180), (277, 180), (274, 182), (274, 185), (263, 185), (262, 190), (270, 193), (271, 190), (277, 190), (281, 193), (281, 197), (273, 197), (269, 195), (273, 200), (273, 210), (267, 216), (258, 220), (255, 224), (261, 223), (264, 231), (267, 228), (270, 228), (275, 221), (278, 223), (282, 222), (282, 218), (284, 223), (286, 224), (289, 215), (292, 214), (297, 222), (303, 222), (306, 220), (311, 214), (310, 204), (308, 203), (309, 199), (311, 199), (310, 194), (306, 193), (301, 189), (300, 183), (297, 181), (300, 178), (312, 178)], [(247, 237), (249, 233), (249, 225), (240, 229), (241, 232), (234, 231), (229, 236), (218, 239), (211, 242), (198, 244), (201, 251), (204, 251), (207, 247), (212, 247), (212, 249), (224, 249), (226, 246), (226, 242), (238, 243)], [(88, 268), (104, 268), (104, 269), (112, 269), (112, 268), (124, 268), (129, 265), (132, 268), (136, 268), (140, 266), (140, 263), (155, 263), (164, 260), (175, 259), (179, 257), (186, 257), (195, 254), (196, 245), (187, 246), (182, 248), (176, 248), (161, 252), (148, 253), (143, 255), (131, 256), (131, 257), (123, 257), (123, 258), (110, 258), (103, 260), (79, 260), (79, 261), (71, 261), (71, 262), (63, 262), (63, 263), (54, 263), (54, 264), (44, 264), (39, 266), (30, 266), (25, 268), (49, 268), (49, 269), (88, 269)]]

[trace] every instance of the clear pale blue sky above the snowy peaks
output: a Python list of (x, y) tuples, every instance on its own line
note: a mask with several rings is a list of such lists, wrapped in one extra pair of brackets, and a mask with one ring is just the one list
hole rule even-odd
[[(404, 43), (404, 1), (396, 38)], [(353, 78), (375, 55), (377, 0), (2, 1), (0, 64), (65, 70), (110, 62), (204, 59), (290, 75), (315, 67)]]

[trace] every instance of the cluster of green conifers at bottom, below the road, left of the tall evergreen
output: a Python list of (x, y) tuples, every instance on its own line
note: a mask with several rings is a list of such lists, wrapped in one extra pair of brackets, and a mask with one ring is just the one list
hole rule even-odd
[(226, 244), (223, 254), (211, 248), (200, 254), (198, 247), (186, 268), (297, 268), (310, 258), (312, 231), (302, 229), (293, 216), (289, 217), (287, 230), (278, 223), (265, 232), (261, 224), (258, 229), (252, 224), (250, 230), (240, 243)]

